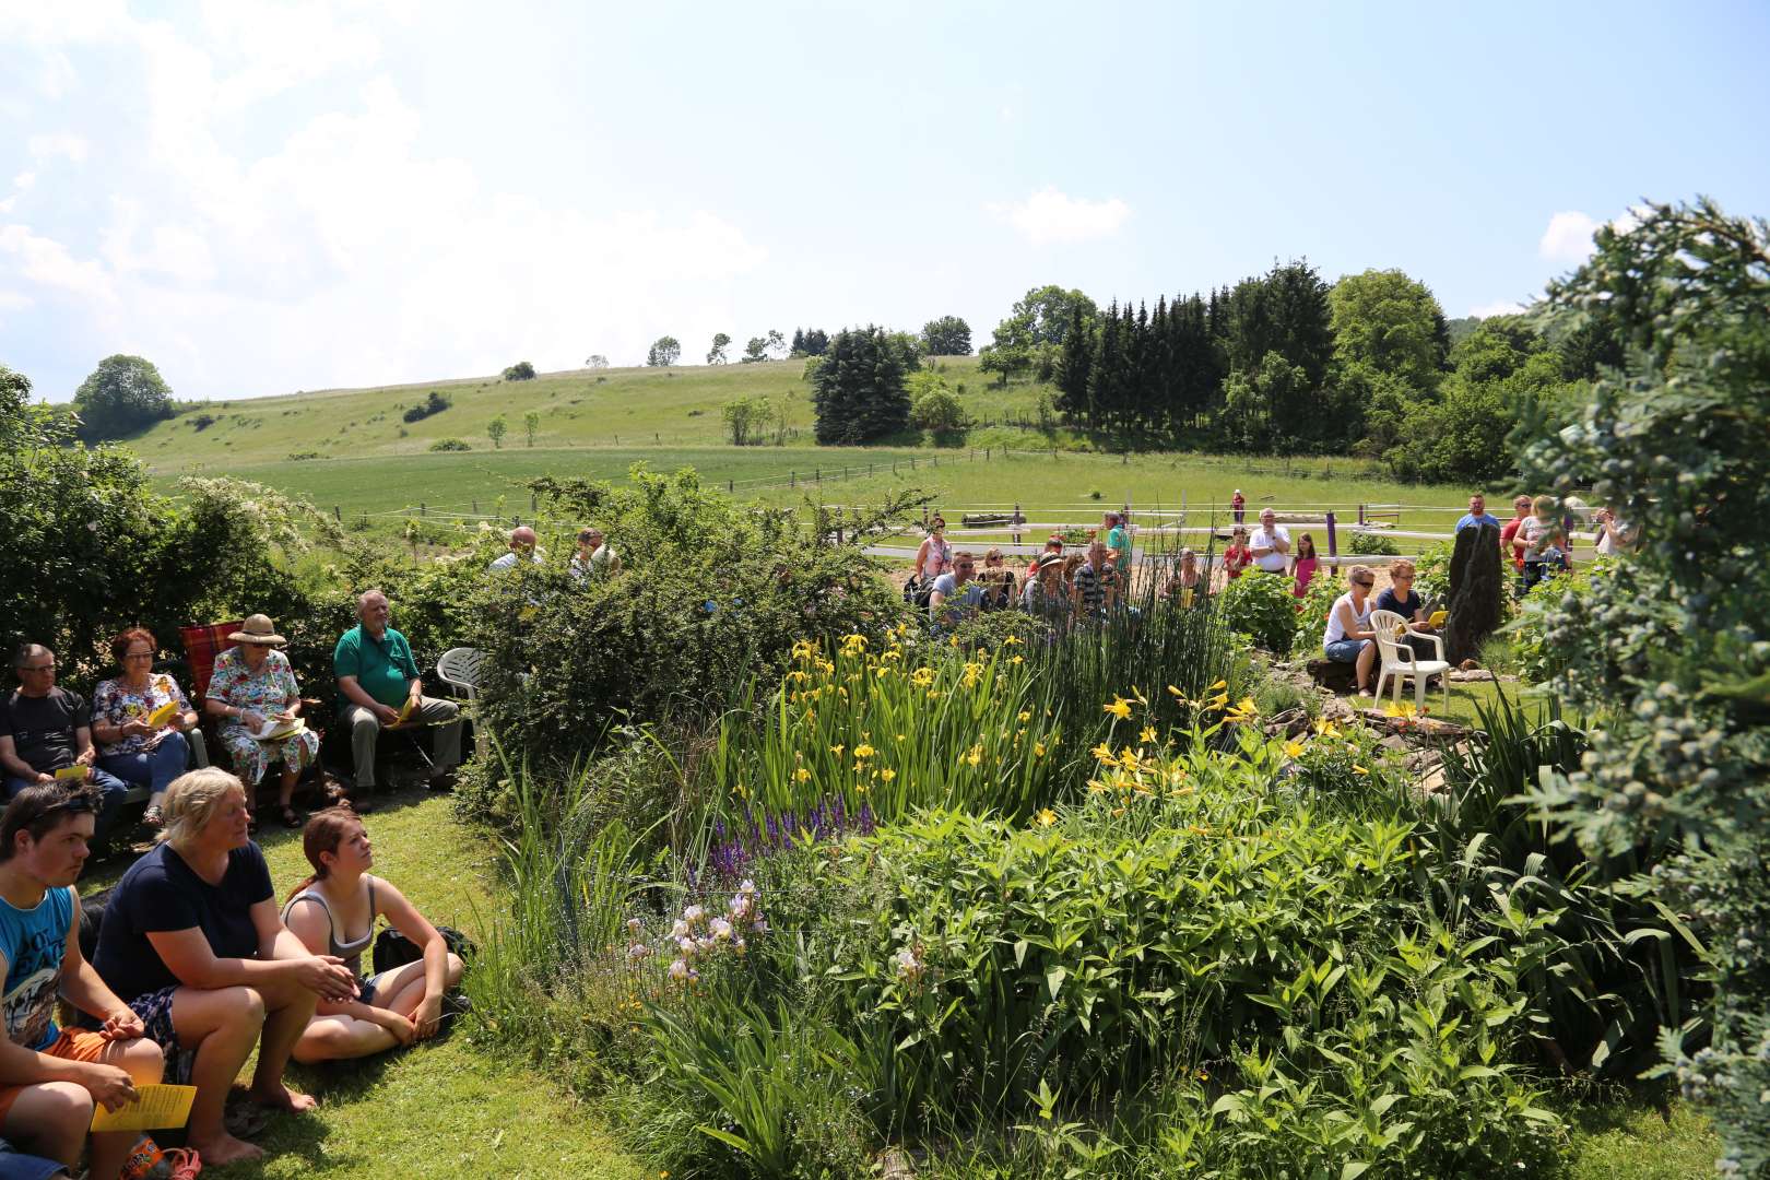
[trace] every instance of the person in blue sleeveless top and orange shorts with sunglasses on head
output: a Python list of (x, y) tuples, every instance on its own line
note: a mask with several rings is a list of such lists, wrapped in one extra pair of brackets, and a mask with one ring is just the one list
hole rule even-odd
[[(0, 1134), (69, 1169), (80, 1162), (96, 1106), (135, 1102), (165, 1060), (142, 1021), (80, 955), (80, 897), (99, 791), (85, 782), (25, 787), (0, 816)], [(103, 1021), (97, 1031), (55, 1026), (55, 1003)], [(115, 1180), (138, 1132), (92, 1136), (92, 1180)], [(4, 1159), (4, 1157), (0, 1157)], [(5, 1166), (0, 1164), (0, 1175)]]

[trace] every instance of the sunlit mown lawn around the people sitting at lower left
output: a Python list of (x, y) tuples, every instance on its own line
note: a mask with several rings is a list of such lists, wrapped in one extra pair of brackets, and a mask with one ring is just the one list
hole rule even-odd
[[(469, 934), (490, 920), (494, 847), (455, 823), (444, 796), (409, 791), (377, 800), (366, 817), (375, 872), (398, 883), (435, 922)], [(266, 828), (260, 839), (278, 895), (306, 876), (301, 833)], [(119, 856), (81, 879), (110, 886), (129, 865)], [(273, 1116), (257, 1141), (262, 1164), (227, 1176), (428, 1180), (501, 1176), (639, 1180), (657, 1173), (623, 1153), (595, 1111), (524, 1061), (473, 1042), (467, 1030), (370, 1061), (292, 1067), (290, 1084), (319, 1097), (312, 1116)], [(207, 1176), (211, 1169), (204, 1169)]]

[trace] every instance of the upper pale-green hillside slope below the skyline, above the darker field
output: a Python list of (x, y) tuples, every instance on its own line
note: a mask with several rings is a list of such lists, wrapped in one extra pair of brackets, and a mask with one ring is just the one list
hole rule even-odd
[[(940, 357), (947, 380), (963, 384), (972, 418), (1032, 414), (1041, 386), (997, 389), (977, 357)], [(335, 389), (278, 398), (216, 402), (158, 423), (129, 446), (156, 472), (276, 464), (290, 455), (326, 458), (421, 455), (439, 439), (460, 439), (474, 453), (492, 451), (487, 425), (504, 416), (503, 451), (524, 451), (524, 416), (540, 414), (535, 449), (720, 446), (727, 442), (720, 407), (735, 398), (766, 396), (788, 407), (789, 442), (811, 446), (811, 387), (800, 379), (804, 361), (708, 364), (681, 368), (611, 368), (543, 373), (506, 382), (435, 380), (377, 389)], [(430, 391), (453, 405), (416, 423), (407, 407)], [(212, 421), (205, 423), (205, 418)]]

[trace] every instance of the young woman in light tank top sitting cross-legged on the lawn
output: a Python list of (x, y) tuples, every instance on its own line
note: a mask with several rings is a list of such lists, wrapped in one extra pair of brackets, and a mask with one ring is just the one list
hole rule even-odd
[[(434, 1037), (442, 996), (460, 982), (462, 964), (400, 890), (368, 876), (375, 856), (363, 821), (343, 807), (315, 812), (301, 849), (313, 876), (283, 904), (283, 923), (313, 954), (343, 959), (358, 980), (356, 1000), (320, 1001), (296, 1042), (296, 1060), (365, 1058)], [(386, 918), (425, 957), (365, 978), (363, 952), (375, 941), (375, 918)]]

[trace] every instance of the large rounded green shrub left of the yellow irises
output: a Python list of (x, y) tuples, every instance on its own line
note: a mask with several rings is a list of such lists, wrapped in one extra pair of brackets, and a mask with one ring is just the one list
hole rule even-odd
[[(834, 527), (738, 506), (692, 471), (535, 487), (565, 543), (497, 579), (467, 635), (490, 656), (483, 720), (536, 766), (568, 766), (628, 720), (706, 716), (784, 669), (798, 637), (878, 637), (903, 609)], [(625, 570), (579, 586), (568, 538), (591, 522)]]

